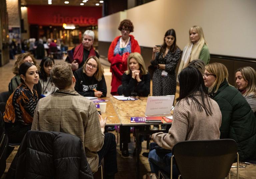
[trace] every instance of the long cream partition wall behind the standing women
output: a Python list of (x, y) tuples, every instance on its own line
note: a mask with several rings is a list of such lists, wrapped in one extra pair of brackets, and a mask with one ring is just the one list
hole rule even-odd
[[(173, 28), (183, 49), (189, 28), (199, 25), (211, 54), (256, 58), (256, 0), (155, 0), (125, 12), (140, 46), (163, 43), (164, 33)], [(111, 42), (120, 35), (117, 14), (98, 20), (99, 32), (104, 32), (99, 41)]]

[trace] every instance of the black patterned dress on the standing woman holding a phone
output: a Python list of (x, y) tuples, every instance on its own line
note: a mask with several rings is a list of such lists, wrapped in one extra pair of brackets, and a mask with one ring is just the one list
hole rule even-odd
[(174, 52), (168, 51), (163, 58), (163, 53), (156, 53), (155, 60), (151, 60), (152, 65), (165, 64), (167, 77), (162, 77), (162, 69), (156, 69), (153, 74), (153, 96), (175, 95), (176, 74), (175, 70), (181, 56), (181, 50), (177, 48)]

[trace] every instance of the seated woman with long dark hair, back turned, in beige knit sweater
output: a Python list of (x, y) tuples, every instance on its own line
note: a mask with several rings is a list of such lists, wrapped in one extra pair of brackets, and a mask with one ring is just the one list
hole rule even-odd
[[(185, 140), (219, 139), (220, 108), (217, 102), (208, 96), (202, 74), (195, 67), (189, 66), (181, 71), (178, 79), (180, 97), (175, 105), (172, 126), (168, 133), (152, 134), (153, 141), (158, 146), (171, 150), (177, 142)], [(170, 173), (171, 151), (158, 155), (157, 150), (159, 149), (149, 152), (151, 171), (157, 173), (161, 169)]]

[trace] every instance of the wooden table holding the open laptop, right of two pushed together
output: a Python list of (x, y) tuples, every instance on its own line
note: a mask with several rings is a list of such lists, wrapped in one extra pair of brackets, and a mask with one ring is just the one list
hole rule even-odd
[[(147, 97), (140, 97), (138, 100), (127, 100), (122, 101), (114, 98), (113, 96), (109, 97), (111, 103), (114, 106), (114, 109), (122, 123), (122, 125), (126, 126), (134, 126), (135, 127), (135, 139), (136, 139), (136, 178), (139, 179), (139, 149), (140, 149), (140, 135), (152, 134), (156, 132), (160, 132), (157, 130), (140, 130), (140, 126), (142, 125), (152, 125), (159, 123), (138, 123), (131, 122), (131, 117), (141, 117), (145, 116), (145, 110), (147, 105)], [(171, 124), (170, 122), (164, 122), (164, 124)], [(120, 142), (120, 146), (121, 146)]]

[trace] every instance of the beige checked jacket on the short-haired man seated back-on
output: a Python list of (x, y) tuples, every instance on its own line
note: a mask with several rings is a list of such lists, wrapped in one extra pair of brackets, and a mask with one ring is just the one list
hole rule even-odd
[(99, 151), (104, 143), (95, 104), (76, 91), (57, 90), (41, 98), (31, 130), (65, 132), (80, 137), (93, 172), (98, 170)]

